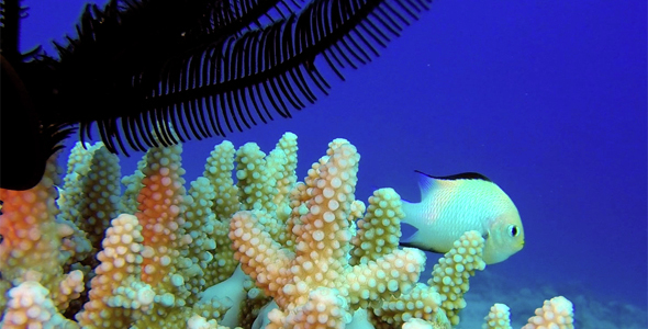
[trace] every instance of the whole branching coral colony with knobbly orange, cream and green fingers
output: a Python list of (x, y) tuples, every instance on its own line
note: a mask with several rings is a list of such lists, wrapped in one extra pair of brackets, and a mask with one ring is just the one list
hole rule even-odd
[[(51, 159), (36, 188), (0, 190), (2, 328), (457, 325), (482, 237), (466, 232), (420, 283), (425, 256), (398, 248), (400, 196), (355, 200), (356, 148), (333, 140), (303, 182), (297, 149), (290, 133), (268, 155), (223, 141), (188, 191), (181, 146), (150, 149), (121, 178), (101, 144), (78, 144), (62, 189)], [(556, 297), (524, 328), (572, 321)], [(509, 308), (483, 327), (511, 328)]]

